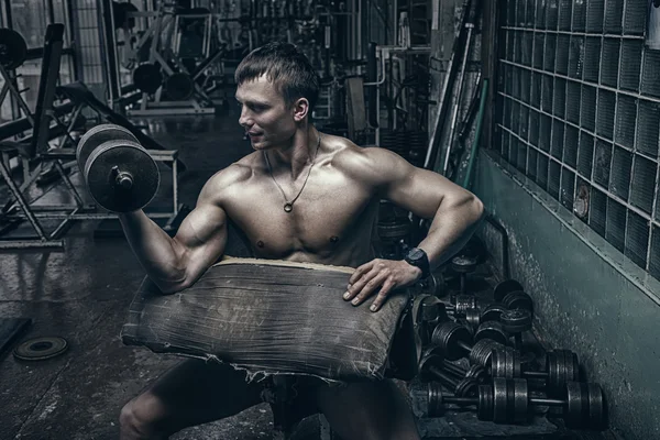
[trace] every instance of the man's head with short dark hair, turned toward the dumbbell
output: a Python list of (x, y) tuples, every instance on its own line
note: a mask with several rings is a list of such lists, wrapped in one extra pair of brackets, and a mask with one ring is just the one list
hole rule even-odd
[(288, 43), (268, 43), (251, 52), (235, 72), (239, 123), (255, 148), (288, 141), (311, 113), (319, 77), (307, 57)]

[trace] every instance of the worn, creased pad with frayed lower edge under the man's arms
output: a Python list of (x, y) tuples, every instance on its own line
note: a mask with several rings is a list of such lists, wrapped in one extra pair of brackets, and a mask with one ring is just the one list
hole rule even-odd
[(145, 279), (122, 340), (158, 353), (217, 359), (251, 375), (382, 378), (408, 295), (392, 294), (375, 314), (371, 301), (354, 307), (341, 297), (352, 272), (230, 258), (174, 295), (162, 295)]

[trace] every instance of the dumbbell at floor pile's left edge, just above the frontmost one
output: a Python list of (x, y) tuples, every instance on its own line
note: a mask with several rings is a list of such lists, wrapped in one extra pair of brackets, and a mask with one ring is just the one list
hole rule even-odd
[(424, 382), (438, 381), (449, 389), (453, 389), (454, 394), (460, 397), (476, 396), (479, 387), (479, 378), (483, 377), (485, 371), (480, 366), (475, 366), (466, 372), (462, 377), (454, 377), (443, 371), (444, 360), (442, 352), (438, 348), (429, 349), (419, 361), (419, 377)]

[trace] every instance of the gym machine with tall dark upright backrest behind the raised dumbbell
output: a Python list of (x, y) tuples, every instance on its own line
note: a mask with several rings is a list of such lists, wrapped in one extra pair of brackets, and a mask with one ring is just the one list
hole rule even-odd
[[(150, 148), (148, 154), (154, 161), (164, 162), (172, 167), (173, 210), (170, 212), (147, 212), (147, 216), (156, 221), (165, 222), (164, 229), (167, 232), (174, 231), (178, 226), (182, 216), (185, 213), (184, 207), (179, 206), (177, 200), (177, 172), (178, 169), (185, 169), (183, 164), (179, 164), (178, 152), (166, 150), (153, 139), (145, 135), (121, 114), (113, 112), (105, 103), (99, 101), (85, 85), (70, 84), (56, 87), (59, 73), (63, 35), (63, 24), (51, 24), (46, 29), (42, 74), (34, 114), (26, 111), (24, 119), (12, 121), (0, 127), (0, 134), (3, 132), (6, 133), (6, 135), (2, 135), (2, 139), (22, 133), (32, 128), (32, 134), (21, 139), (20, 142), (0, 142), (0, 150), (2, 150), (3, 153), (18, 154), (29, 162), (37, 163), (37, 170), (29, 174), (28, 178), (24, 178), (20, 185), (13, 180), (4, 162), (0, 164), (2, 177), (13, 196), (0, 209), (0, 220), (2, 220), (2, 223), (4, 224), (4, 228), (0, 230), (0, 234), (9, 232), (24, 220), (28, 220), (31, 223), (32, 229), (36, 233), (35, 238), (3, 238), (0, 240), (0, 249), (50, 249), (63, 251), (64, 240), (62, 237), (73, 221), (117, 219), (116, 213), (98, 212), (96, 205), (85, 202), (84, 197), (76, 189), (67, 175), (68, 173), (65, 170), (65, 167), (68, 167), (68, 164), (65, 165), (64, 162), (75, 164), (76, 160), (74, 150), (76, 141), (72, 139), (69, 132), (73, 129), (84, 128), (86, 120), (81, 114), (85, 109), (97, 112), (101, 119), (124, 127), (139, 139), (141, 144), (146, 145)], [(13, 47), (13, 45), (11, 47)], [(6, 46), (6, 50), (0, 52), (8, 56), (7, 54), (12, 54), (12, 51), (16, 51), (11, 47)], [(22, 45), (18, 44), (16, 47), (19, 47), (18, 53), (21, 53), (20, 47), (22, 47)], [(8, 75), (6, 66), (12, 67), (18, 63), (10, 63), (11, 59), (8, 61), (6, 58), (2, 61), (2, 64), (0, 64), (0, 70), (3, 75)], [(15, 88), (15, 86), (8, 87)], [(18, 90), (15, 90), (14, 95), (20, 98)], [(63, 103), (59, 106), (54, 106), (56, 96), (64, 98)], [(68, 120), (63, 119), (63, 116), (66, 114), (70, 114)], [(59, 142), (58, 145), (51, 147), (48, 142), (58, 135), (62, 135), (64, 141)], [(32, 204), (28, 200), (24, 193), (38, 176), (38, 170), (41, 170), (41, 165), (43, 163), (54, 164), (55, 169), (59, 173), (64, 182), (72, 202), (45, 205), (43, 202)], [(26, 167), (24, 167), (24, 170), (25, 169)], [(54, 231), (47, 232), (42, 224), (43, 220), (59, 220), (61, 223)]]

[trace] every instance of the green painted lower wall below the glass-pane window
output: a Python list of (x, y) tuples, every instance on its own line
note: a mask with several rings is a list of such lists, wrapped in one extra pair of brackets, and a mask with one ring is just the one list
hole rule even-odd
[[(509, 234), (512, 276), (535, 300), (538, 332), (579, 354), (617, 433), (660, 439), (660, 283), (487, 152), (472, 190)], [(502, 264), (502, 235), (487, 223), (480, 233)]]

